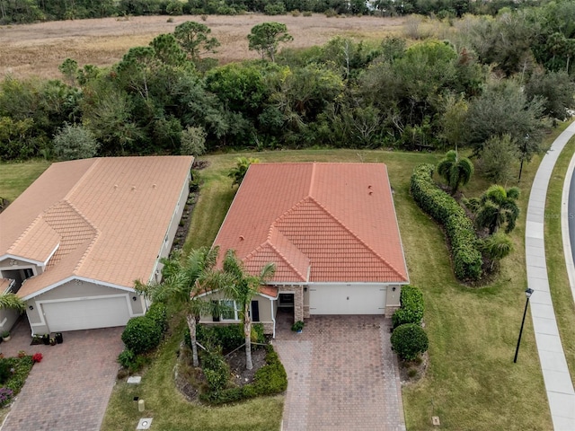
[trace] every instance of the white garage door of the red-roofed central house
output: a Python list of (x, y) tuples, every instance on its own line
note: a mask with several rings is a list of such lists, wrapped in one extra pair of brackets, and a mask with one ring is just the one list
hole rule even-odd
[(384, 314), (385, 286), (312, 285), (310, 314)]

